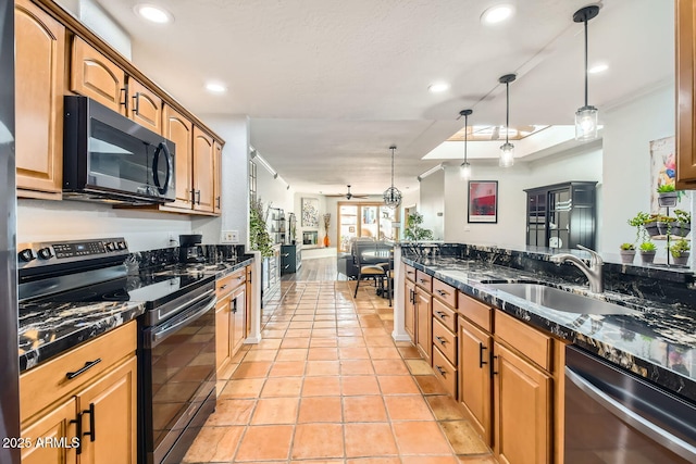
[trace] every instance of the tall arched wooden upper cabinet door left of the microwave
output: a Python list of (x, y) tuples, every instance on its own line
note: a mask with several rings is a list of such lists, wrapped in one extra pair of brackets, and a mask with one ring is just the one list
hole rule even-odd
[(14, 12), (18, 196), (60, 199), (65, 28), (29, 0), (16, 0)]

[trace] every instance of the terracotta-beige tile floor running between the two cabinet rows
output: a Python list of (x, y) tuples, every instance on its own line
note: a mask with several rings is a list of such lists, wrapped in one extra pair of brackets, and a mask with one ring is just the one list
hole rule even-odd
[(415, 349), (393, 341), (387, 301), (353, 286), (283, 283), (184, 462), (496, 463)]

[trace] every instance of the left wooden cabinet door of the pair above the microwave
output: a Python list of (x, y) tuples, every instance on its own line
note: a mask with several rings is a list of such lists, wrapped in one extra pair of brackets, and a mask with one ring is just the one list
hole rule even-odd
[(126, 114), (125, 72), (101, 52), (75, 36), (71, 90)]

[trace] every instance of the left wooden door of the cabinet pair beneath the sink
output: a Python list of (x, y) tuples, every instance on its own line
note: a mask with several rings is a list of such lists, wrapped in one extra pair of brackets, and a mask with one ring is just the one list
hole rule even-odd
[(459, 317), (459, 402), (487, 446), (493, 446), (490, 352), (493, 337)]

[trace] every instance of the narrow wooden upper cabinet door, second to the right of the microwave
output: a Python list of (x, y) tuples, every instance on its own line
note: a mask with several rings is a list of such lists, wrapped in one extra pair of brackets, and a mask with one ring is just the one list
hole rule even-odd
[(212, 213), (214, 208), (215, 148), (213, 138), (194, 126), (194, 210)]

